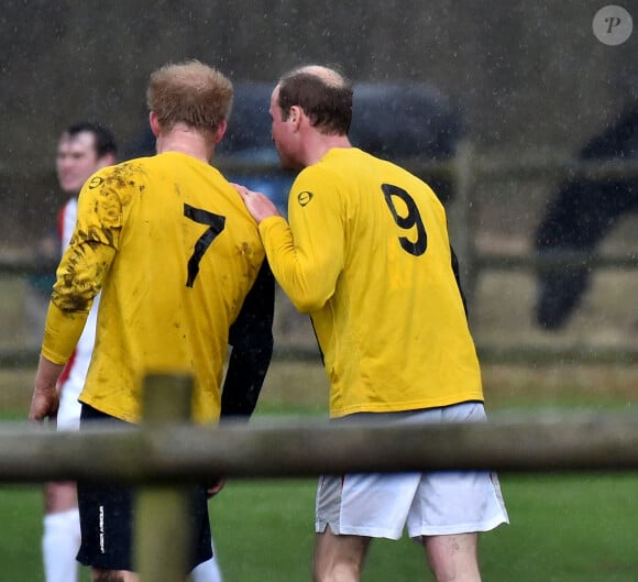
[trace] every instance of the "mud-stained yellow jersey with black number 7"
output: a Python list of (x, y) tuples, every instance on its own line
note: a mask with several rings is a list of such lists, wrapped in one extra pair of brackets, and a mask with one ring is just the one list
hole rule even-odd
[(229, 328), (263, 261), (254, 220), (212, 166), (164, 153), (105, 168), (79, 196), (43, 354), (68, 359), (101, 288), (80, 400), (138, 421), (144, 374), (182, 372), (195, 376), (195, 418), (215, 420)]

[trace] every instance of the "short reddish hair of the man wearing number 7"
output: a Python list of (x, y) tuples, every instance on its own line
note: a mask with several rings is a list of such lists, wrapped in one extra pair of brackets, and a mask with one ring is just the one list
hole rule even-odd
[(146, 103), (163, 130), (185, 123), (206, 133), (230, 117), (232, 83), (199, 61), (168, 64), (151, 74)]

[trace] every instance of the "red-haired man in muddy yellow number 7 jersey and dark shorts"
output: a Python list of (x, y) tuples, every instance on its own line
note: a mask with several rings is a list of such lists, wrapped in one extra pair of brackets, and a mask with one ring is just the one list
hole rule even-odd
[[(274, 279), (254, 220), (210, 165), (232, 97), (230, 80), (196, 61), (151, 75), (157, 155), (103, 168), (80, 191), (46, 318), (32, 420), (55, 416), (56, 381), (100, 289), (81, 422), (139, 422), (148, 373), (191, 374), (198, 422), (217, 422), (222, 408), (252, 413), (272, 354)], [(211, 557), (207, 496), (221, 486), (193, 490), (191, 568)], [(94, 582), (138, 580), (132, 495), (114, 484), (78, 484), (78, 560), (92, 568)]]

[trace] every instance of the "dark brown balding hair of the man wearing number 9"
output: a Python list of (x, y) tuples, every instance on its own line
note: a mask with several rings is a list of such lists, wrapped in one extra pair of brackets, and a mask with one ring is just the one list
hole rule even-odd
[(298, 106), (321, 133), (345, 135), (352, 121), (352, 85), (340, 73), (317, 65), (294, 69), (277, 85), (284, 120)]

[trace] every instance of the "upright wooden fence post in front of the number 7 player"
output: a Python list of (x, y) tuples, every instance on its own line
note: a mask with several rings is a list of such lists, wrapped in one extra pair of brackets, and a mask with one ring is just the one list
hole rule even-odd
[[(190, 419), (193, 378), (148, 375), (144, 381), (142, 430)], [(185, 580), (190, 551), (188, 485), (140, 486), (135, 510), (135, 556), (141, 582)]]

